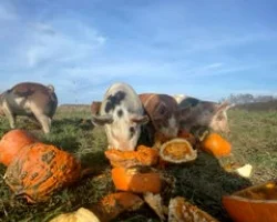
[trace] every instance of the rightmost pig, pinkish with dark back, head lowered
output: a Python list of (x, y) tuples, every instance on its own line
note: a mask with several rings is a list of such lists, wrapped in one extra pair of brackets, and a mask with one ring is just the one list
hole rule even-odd
[(215, 132), (229, 132), (227, 110), (234, 104), (203, 101), (186, 95), (175, 95), (175, 99), (178, 101), (178, 108), (186, 109), (189, 113), (186, 119), (182, 120), (182, 129), (191, 131), (195, 127), (204, 127)]

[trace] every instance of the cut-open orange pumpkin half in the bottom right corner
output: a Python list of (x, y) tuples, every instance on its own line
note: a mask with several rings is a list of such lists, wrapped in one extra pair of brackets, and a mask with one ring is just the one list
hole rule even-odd
[(223, 205), (234, 222), (276, 222), (277, 181), (268, 181), (224, 195)]

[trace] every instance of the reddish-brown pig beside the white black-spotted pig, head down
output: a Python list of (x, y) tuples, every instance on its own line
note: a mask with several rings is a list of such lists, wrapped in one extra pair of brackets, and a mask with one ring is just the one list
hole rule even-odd
[(182, 109), (178, 109), (177, 102), (173, 97), (168, 94), (156, 93), (142, 93), (138, 94), (145, 113), (150, 118), (147, 125), (143, 128), (148, 138), (147, 145), (154, 145), (157, 148), (163, 140), (157, 139), (161, 137), (164, 139), (173, 139), (177, 137), (179, 130), (179, 122), (185, 118), (185, 113)]

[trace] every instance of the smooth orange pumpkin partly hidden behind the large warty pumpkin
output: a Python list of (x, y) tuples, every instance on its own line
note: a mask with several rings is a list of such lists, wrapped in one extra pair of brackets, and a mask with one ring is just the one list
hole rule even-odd
[(38, 140), (25, 130), (10, 130), (0, 141), (0, 162), (8, 167), (22, 148), (35, 141)]

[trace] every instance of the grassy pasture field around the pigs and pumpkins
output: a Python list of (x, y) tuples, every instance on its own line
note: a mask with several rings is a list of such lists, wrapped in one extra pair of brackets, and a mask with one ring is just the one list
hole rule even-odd
[[(222, 222), (230, 219), (224, 211), (220, 199), (250, 184), (263, 183), (277, 178), (277, 111), (228, 111), (230, 134), (224, 135), (233, 144), (233, 157), (217, 160), (199, 152), (189, 165), (166, 168), (176, 179), (171, 196), (182, 195)], [(47, 222), (53, 216), (79, 209), (90, 208), (105, 194), (115, 192), (111, 180), (111, 167), (104, 157), (106, 138), (102, 128), (92, 128), (90, 108), (59, 108), (51, 133), (41, 130), (25, 118), (20, 118), (18, 128), (33, 132), (41, 141), (73, 153), (84, 167), (94, 169), (92, 175), (63, 189), (45, 203), (28, 204), (24, 199), (12, 198), (2, 176), (6, 167), (0, 167), (0, 221)], [(0, 137), (8, 132), (9, 124), (0, 119)], [(250, 179), (243, 179), (226, 172), (222, 165), (229, 162), (249, 163), (254, 167)], [(153, 211), (144, 205), (136, 212), (121, 214), (114, 221), (158, 221)]]

